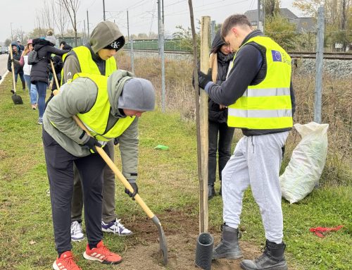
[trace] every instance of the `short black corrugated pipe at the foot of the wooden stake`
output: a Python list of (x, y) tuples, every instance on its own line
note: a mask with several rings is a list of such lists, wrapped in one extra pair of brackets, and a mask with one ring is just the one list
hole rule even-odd
[(201, 269), (211, 269), (214, 238), (209, 233), (201, 233), (197, 239), (196, 266)]

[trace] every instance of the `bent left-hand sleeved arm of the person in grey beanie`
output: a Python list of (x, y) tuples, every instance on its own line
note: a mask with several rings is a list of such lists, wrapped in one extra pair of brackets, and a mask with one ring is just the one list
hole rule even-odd
[(46, 107), (46, 116), (54, 127), (71, 140), (83, 145), (89, 139), (72, 116), (92, 109), (98, 90), (89, 78), (77, 78), (70, 84), (63, 85)]

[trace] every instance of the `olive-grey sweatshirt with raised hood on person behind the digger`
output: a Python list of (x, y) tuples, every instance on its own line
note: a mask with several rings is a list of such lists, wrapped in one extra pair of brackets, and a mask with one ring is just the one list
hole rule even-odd
[[(122, 48), (125, 44), (125, 37), (122, 35), (115, 23), (106, 20), (96, 25), (92, 31), (89, 43), (84, 45), (90, 50), (92, 60), (96, 63), (96, 66), (98, 66), (101, 75), (105, 75), (106, 62), (99, 57), (98, 51), (117, 39), (121, 41), (120, 44), (122, 46), (120, 48)], [(70, 51), (63, 63), (63, 83), (72, 79), (75, 73), (80, 73), (81, 71), (80, 62), (78, 62), (75, 51)]]

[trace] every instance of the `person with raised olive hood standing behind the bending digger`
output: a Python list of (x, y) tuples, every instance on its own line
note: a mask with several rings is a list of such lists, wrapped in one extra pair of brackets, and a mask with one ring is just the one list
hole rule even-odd
[[(96, 25), (92, 31), (89, 43), (75, 47), (67, 56), (63, 57), (62, 82), (68, 82), (76, 73), (109, 76), (118, 66), (114, 59), (116, 52), (125, 44), (125, 37), (118, 26), (108, 20)], [(109, 141), (107, 145), (109, 157), (114, 160), (114, 144)], [(121, 149), (121, 148), (120, 148)], [(130, 149), (133, 152), (133, 149)], [(126, 161), (122, 159), (122, 173), (130, 183), (137, 187), (137, 156), (136, 159)], [(135, 166), (134, 166), (135, 165)], [(75, 182), (71, 206), (71, 238), (73, 241), (84, 239), (82, 231), (82, 179), (75, 168)], [(132, 231), (125, 228), (115, 214), (115, 174), (106, 166), (103, 172), (103, 214), (101, 227), (106, 233), (116, 235), (131, 235)]]

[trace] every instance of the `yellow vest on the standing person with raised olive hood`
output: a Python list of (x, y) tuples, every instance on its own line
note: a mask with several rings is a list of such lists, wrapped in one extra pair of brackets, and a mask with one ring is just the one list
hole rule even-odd
[[(80, 46), (80, 47), (75, 47), (72, 50), (75, 51), (78, 62), (80, 63), (81, 73), (101, 75), (98, 66), (92, 59), (92, 54), (87, 47)], [(63, 55), (63, 63), (65, 61), (66, 56), (67, 54)], [(111, 75), (111, 73), (113, 73), (117, 69), (116, 61), (115, 61), (115, 58), (113, 57), (110, 57), (108, 60), (106, 60), (105, 65), (106, 65), (105, 66), (106, 76)], [(63, 70), (62, 70), (61, 76), (62, 76), (61, 78), (63, 78)]]

